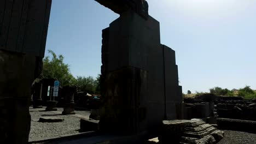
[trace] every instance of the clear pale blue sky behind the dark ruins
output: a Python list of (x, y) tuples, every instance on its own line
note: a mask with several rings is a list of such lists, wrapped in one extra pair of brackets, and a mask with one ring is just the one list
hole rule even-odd
[[(176, 51), (183, 93), (256, 89), (256, 1), (148, 0), (161, 44)], [(119, 17), (94, 0), (53, 0), (47, 50), (63, 55), (73, 76), (100, 74), (102, 29)]]

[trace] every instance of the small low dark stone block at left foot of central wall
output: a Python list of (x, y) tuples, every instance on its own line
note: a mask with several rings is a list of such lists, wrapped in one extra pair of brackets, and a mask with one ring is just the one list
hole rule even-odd
[(80, 130), (96, 131), (98, 130), (98, 122), (94, 119), (80, 119)]

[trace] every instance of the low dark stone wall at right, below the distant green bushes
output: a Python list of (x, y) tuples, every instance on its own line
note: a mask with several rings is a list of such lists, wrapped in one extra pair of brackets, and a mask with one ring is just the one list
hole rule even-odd
[[(199, 117), (205, 109), (193, 110), (193, 107), (199, 107), (203, 103), (209, 103), (212, 100), (214, 102), (214, 112), (218, 113), (220, 118), (231, 118), (231, 119), (243, 119), (247, 121), (256, 121), (256, 99), (246, 100), (242, 97), (225, 97), (225, 96), (215, 96), (213, 94), (203, 94), (195, 98), (184, 98), (184, 103), (186, 104), (186, 109), (191, 112), (185, 113), (187, 118), (203, 118)], [(190, 107), (190, 108), (189, 108)], [(186, 110), (185, 109), (185, 110)], [(189, 110), (191, 109), (191, 110)], [(197, 108), (198, 109), (198, 108)]]

